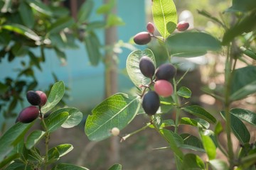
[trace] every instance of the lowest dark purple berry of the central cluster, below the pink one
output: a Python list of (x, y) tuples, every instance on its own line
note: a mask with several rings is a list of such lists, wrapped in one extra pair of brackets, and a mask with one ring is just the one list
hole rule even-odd
[(155, 91), (147, 92), (142, 98), (142, 108), (148, 115), (156, 114), (160, 106), (159, 95)]

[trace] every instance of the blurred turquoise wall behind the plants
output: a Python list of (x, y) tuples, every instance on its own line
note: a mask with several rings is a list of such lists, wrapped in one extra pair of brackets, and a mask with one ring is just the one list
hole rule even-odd
[[(128, 42), (133, 35), (139, 31), (146, 30), (145, 6), (144, 0), (119, 0), (117, 1), (117, 13), (126, 23), (125, 26), (118, 28), (117, 35), (119, 40)], [(95, 1), (95, 9), (102, 4), (102, 1)], [(92, 21), (102, 20), (102, 16), (94, 13), (91, 16)], [(104, 30), (99, 30), (97, 35), (100, 41), (104, 42)], [(70, 99), (67, 101), (68, 106), (83, 108), (92, 108), (97, 103), (102, 101), (104, 96), (104, 65), (99, 64), (97, 67), (92, 67), (87, 59), (85, 46), (79, 44), (78, 50), (66, 50), (67, 64), (61, 65), (60, 60), (55, 56), (52, 50), (46, 51), (46, 63), (42, 64), (43, 72), (36, 69), (36, 76), (38, 77), (38, 89), (47, 89), (48, 84), (53, 83), (52, 72), (54, 72), (58, 79), (63, 80), (65, 85), (70, 88), (67, 93)], [(123, 49), (119, 55), (119, 71), (125, 68), (129, 50)], [(2, 60), (0, 63), (0, 79), (4, 77), (16, 77), (14, 68), (20, 67), (21, 60), (18, 58), (11, 64)], [(132, 87), (132, 82), (123, 74), (119, 74), (119, 91), (128, 91)]]

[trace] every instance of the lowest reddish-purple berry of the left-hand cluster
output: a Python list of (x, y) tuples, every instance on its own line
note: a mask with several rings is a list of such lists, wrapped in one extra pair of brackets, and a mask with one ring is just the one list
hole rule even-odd
[(19, 113), (16, 122), (21, 123), (31, 123), (33, 120), (36, 120), (39, 115), (39, 108), (36, 106), (28, 106), (24, 108), (21, 113)]

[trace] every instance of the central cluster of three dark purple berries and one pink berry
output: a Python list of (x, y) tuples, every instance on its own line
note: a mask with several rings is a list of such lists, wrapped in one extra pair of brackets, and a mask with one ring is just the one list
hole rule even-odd
[(151, 58), (143, 56), (139, 61), (139, 69), (154, 84), (154, 91), (149, 90), (142, 96), (142, 108), (145, 113), (154, 115), (160, 106), (159, 96), (169, 97), (174, 92), (170, 81), (176, 75), (176, 68), (172, 64), (166, 63), (155, 69)]

